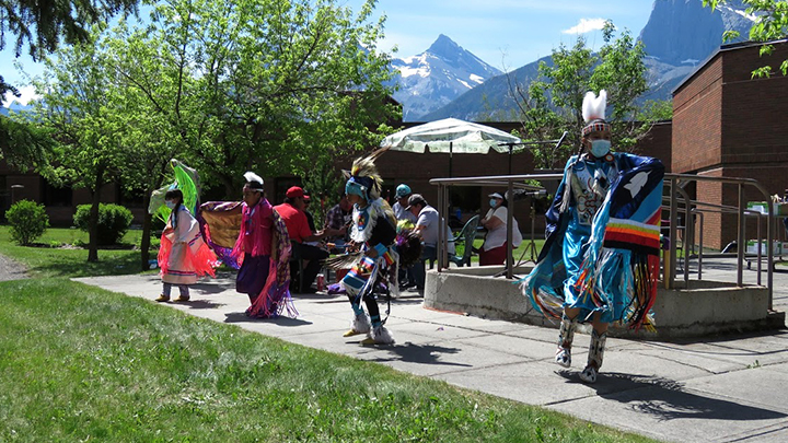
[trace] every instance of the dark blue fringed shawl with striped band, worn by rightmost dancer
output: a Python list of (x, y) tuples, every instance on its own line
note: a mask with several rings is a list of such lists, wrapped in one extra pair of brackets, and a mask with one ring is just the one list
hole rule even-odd
[[(657, 159), (616, 154), (618, 178), (594, 217), (592, 235), (576, 288), (592, 296), (614, 320), (638, 329), (652, 327), (649, 310), (659, 278), (659, 222), (664, 166)], [(547, 238), (536, 267), (520, 282), (523, 293), (543, 314), (558, 317), (567, 279), (563, 242), (571, 213), (565, 194), (567, 175), (546, 213)]]

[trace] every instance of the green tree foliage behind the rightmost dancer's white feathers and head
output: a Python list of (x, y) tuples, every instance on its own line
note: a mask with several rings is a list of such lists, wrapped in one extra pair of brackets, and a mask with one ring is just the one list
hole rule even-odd
[[(531, 148), (536, 167), (560, 167), (577, 149), (571, 140), (580, 139), (582, 100), (588, 91), (607, 91), (607, 120), (617, 149), (631, 150), (648, 130), (634, 121), (639, 110), (636, 98), (648, 90), (642, 43), (628, 31), (617, 38), (614, 32), (609, 21), (603, 28), (604, 45), (598, 53), (580, 36), (572, 47), (561, 44), (554, 49), (552, 65), (542, 61), (538, 78), (528, 86), (510, 82), (520, 109), (521, 136), (538, 143)], [(547, 143), (564, 131), (569, 133), (568, 143), (558, 148)]]

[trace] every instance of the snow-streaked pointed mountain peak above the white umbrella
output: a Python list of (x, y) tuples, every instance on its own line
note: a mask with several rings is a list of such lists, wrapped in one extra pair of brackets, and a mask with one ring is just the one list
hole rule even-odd
[(392, 68), (399, 83), (394, 98), (403, 105), (405, 121), (418, 120), (501, 73), (442, 34), (426, 51), (393, 59)]

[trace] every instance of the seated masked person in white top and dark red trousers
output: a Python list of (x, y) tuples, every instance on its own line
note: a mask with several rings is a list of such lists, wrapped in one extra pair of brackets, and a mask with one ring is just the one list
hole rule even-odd
[[(503, 265), (507, 256), (507, 201), (498, 193), (490, 194), (490, 209), (482, 219), (482, 225), (487, 229), (487, 236), (479, 252), (479, 266)], [(520, 246), (522, 234), (517, 219), (512, 218), (512, 248)]]

